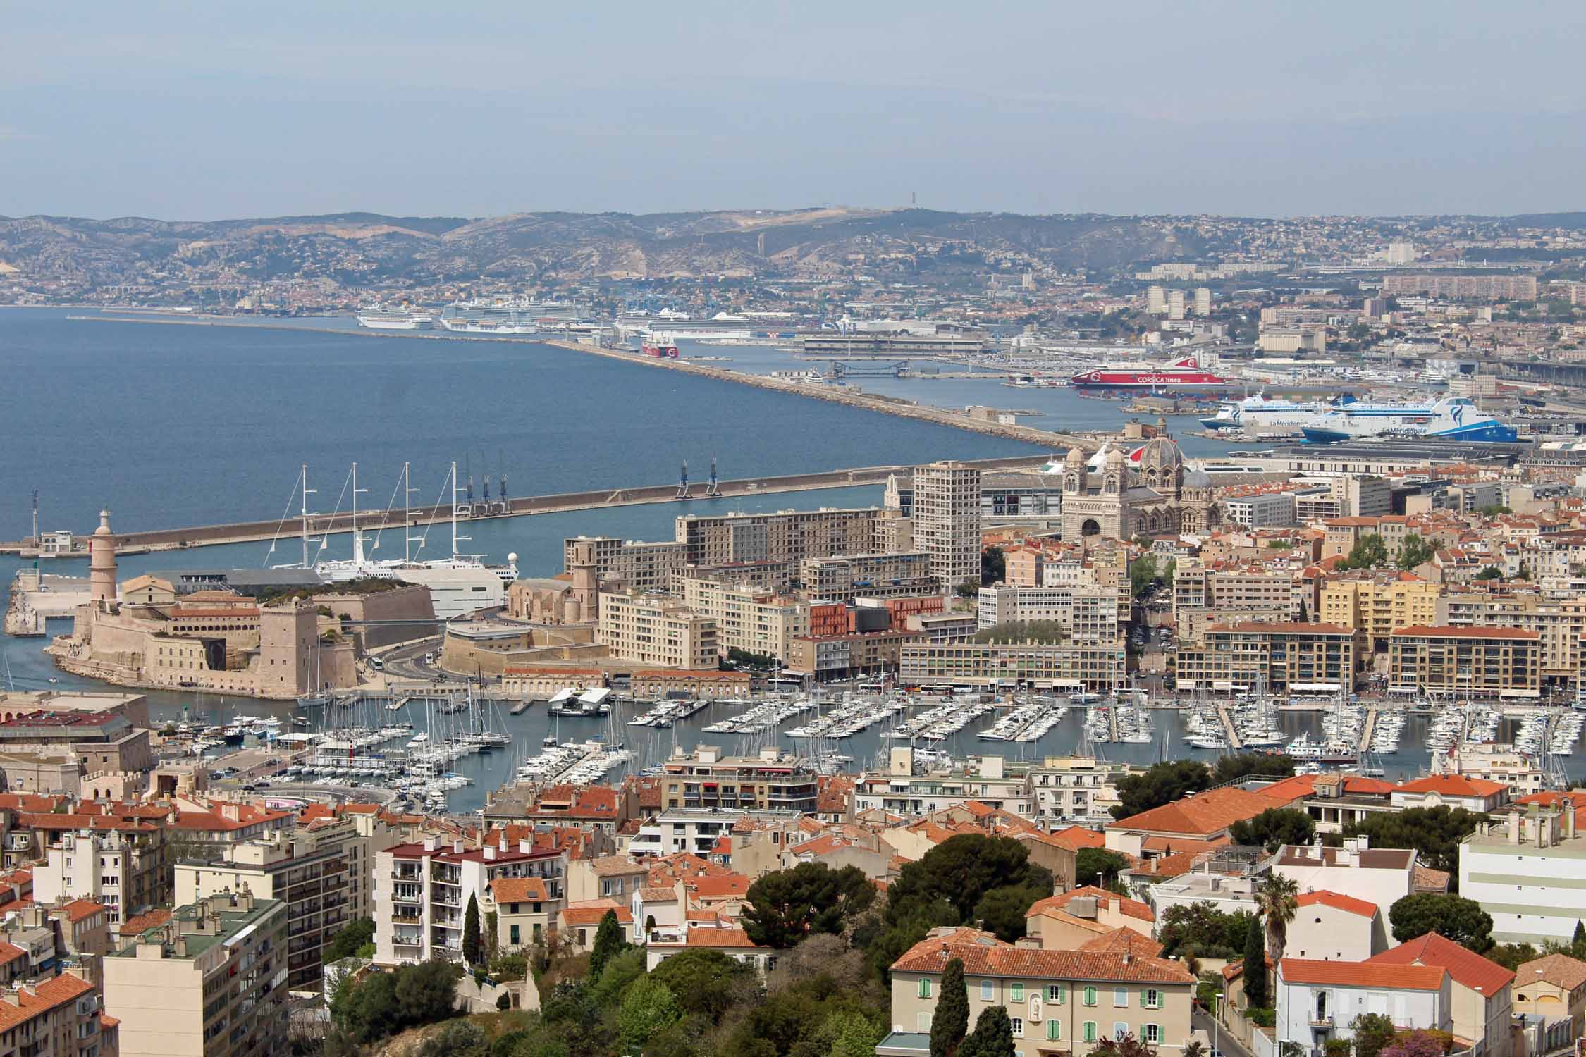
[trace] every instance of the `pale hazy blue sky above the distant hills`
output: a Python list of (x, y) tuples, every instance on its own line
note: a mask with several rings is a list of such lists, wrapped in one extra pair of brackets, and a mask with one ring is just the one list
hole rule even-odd
[(21, 3), (0, 214), (1586, 208), (1586, 3)]

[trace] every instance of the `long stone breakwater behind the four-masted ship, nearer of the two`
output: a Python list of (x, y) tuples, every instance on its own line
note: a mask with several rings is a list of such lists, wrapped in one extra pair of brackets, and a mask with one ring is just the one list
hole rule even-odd
[[(964, 460), (967, 466), (982, 471), (998, 469), (1031, 469), (1045, 464), (1050, 455), (1010, 455), (988, 460)], [(814, 491), (820, 488), (853, 488), (861, 485), (883, 485), (891, 474), (912, 472), (914, 466), (860, 466), (853, 469), (825, 471), (818, 474), (785, 474), (772, 477), (745, 477), (741, 480), (717, 482), (717, 494), (706, 496), (707, 485), (696, 482), (688, 485), (687, 494), (679, 494), (677, 483), (668, 485), (636, 485), (630, 488), (593, 488), (590, 491), (566, 491), (547, 496), (522, 496), (509, 502), (474, 504), (469, 512), (460, 507), (460, 521), (484, 521), (492, 518), (512, 518), (533, 513), (561, 513), (566, 510), (595, 510), (601, 507), (625, 507), (649, 502), (687, 502), (690, 499), (736, 499), (779, 491)], [(433, 507), (414, 507), (411, 510), (412, 525), (435, 525), (452, 520), (450, 504)], [(311, 529), (317, 534), (336, 534), (352, 531), (352, 513), (309, 515)], [(377, 529), (400, 529), (403, 523), (401, 510), (360, 510), (358, 528), (368, 532)], [(127, 553), (124, 548), (140, 551), (181, 550), (186, 547), (214, 547), (220, 544), (252, 544), (276, 539), (295, 532), (293, 520), (287, 521), (235, 521), (228, 525), (198, 525), (192, 528), (154, 529), (146, 532), (117, 532), (116, 553)], [(21, 553), (29, 544), (0, 544), (0, 553)], [(87, 601), (87, 599), (82, 599)], [(65, 616), (70, 616), (67, 609)]]

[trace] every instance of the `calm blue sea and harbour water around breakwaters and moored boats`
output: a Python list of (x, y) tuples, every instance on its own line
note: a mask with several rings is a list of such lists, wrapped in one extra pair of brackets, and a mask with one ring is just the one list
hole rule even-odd
[[(450, 460), (468, 461), (476, 482), (506, 469), (511, 494), (574, 491), (606, 485), (676, 480), (690, 463), (701, 480), (711, 456), (723, 477), (790, 474), (839, 466), (923, 463), (1039, 452), (1026, 444), (895, 418), (793, 395), (663, 374), (598, 357), (522, 341), (371, 339), (319, 333), (351, 330), (352, 320), (300, 320), (298, 330), (193, 326), (68, 320), (65, 311), (0, 311), (0, 368), (8, 379), (8, 456), (0, 460), (0, 537), (30, 531), (29, 494), (40, 491), (43, 528), (87, 529), (102, 506), (117, 529), (165, 528), (279, 517), (298, 464), (308, 463), (319, 510), (336, 507), (347, 464), (358, 461), (360, 506), (385, 506), (403, 461), (412, 463), (422, 499), (438, 498)], [(730, 357), (720, 366), (769, 372), (812, 364), (769, 347), (693, 347)], [(1107, 429), (1126, 414), (1118, 404), (1066, 390), (1018, 390), (998, 382), (855, 379), (872, 391), (939, 406), (991, 404), (1036, 410), (1032, 425)], [(1183, 434), (1193, 417), (1174, 420), (1191, 455), (1220, 455), (1224, 445)], [(420, 498), (420, 496), (416, 496)], [(755, 499), (695, 501), (554, 513), (468, 526), (465, 548), (493, 559), (519, 555), (523, 575), (560, 572), (561, 539), (579, 532), (626, 539), (669, 539), (680, 512), (774, 510), (818, 506), (877, 506), (880, 488), (769, 494)], [(346, 499), (343, 499), (343, 509)], [(290, 529), (289, 529), (290, 531)], [(446, 553), (449, 532), (435, 526), (425, 556)], [(400, 547), (387, 537), (384, 547)], [(347, 537), (331, 537), (327, 556), (347, 556)], [(290, 561), (295, 544), (271, 556), (266, 544), (208, 547), (121, 559), (122, 577), (178, 567), (260, 566)], [(21, 563), (0, 558), (10, 588)], [(86, 575), (86, 561), (54, 572)], [(54, 634), (67, 629), (60, 621)], [(0, 678), (17, 689), (98, 686), (56, 672), (40, 653), (41, 639), (0, 639)], [(208, 719), (279, 715), (292, 705), (216, 694), (149, 694), (157, 716), (184, 708)], [(653, 762), (672, 745), (722, 743), (749, 748), (749, 738), (701, 734), (730, 715), (712, 705), (669, 731), (628, 727), (630, 707), (615, 723), (565, 721), (552, 729), (542, 710), (508, 716), (512, 750), (463, 759), (460, 773), (476, 784), (452, 794), (450, 807), (469, 811), (485, 791), (511, 775), (514, 757), (538, 751), (541, 738), (615, 737)], [(1034, 745), (974, 738), (972, 724), (948, 743), (958, 753), (1004, 753), (1036, 759), (1067, 753), (1080, 738), (1080, 712)], [(422, 715), (409, 716), (420, 726)], [(1170, 729), (1175, 757), (1213, 753), (1182, 743)], [(1313, 713), (1286, 713), (1289, 734), (1316, 731)], [(1424, 765), (1424, 721), (1412, 719), (1404, 751), (1385, 759), (1389, 773)], [(783, 738), (791, 746), (790, 738)], [(885, 748), (879, 729), (841, 743), (852, 767)], [(1110, 745), (1113, 759), (1150, 761), (1151, 745)]]

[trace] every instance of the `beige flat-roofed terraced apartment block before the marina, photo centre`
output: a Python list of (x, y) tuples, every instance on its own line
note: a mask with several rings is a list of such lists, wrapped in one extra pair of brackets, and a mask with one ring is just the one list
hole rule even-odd
[(801, 756), (776, 748), (758, 756), (722, 756), (714, 745), (682, 746), (663, 765), (663, 808), (780, 808), (814, 813), (820, 777)]

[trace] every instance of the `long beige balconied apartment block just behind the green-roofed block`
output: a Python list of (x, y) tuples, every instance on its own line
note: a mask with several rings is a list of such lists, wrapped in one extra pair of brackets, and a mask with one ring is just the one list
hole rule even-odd
[(320, 949), (354, 918), (374, 910), (374, 853), (395, 845), (385, 822), (347, 815), (309, 829), (274, 832), (230, 849), (220, 862), (178, 862), (176, 902), (241, 892), (287, 905), (287, 987), (314, 989)]

